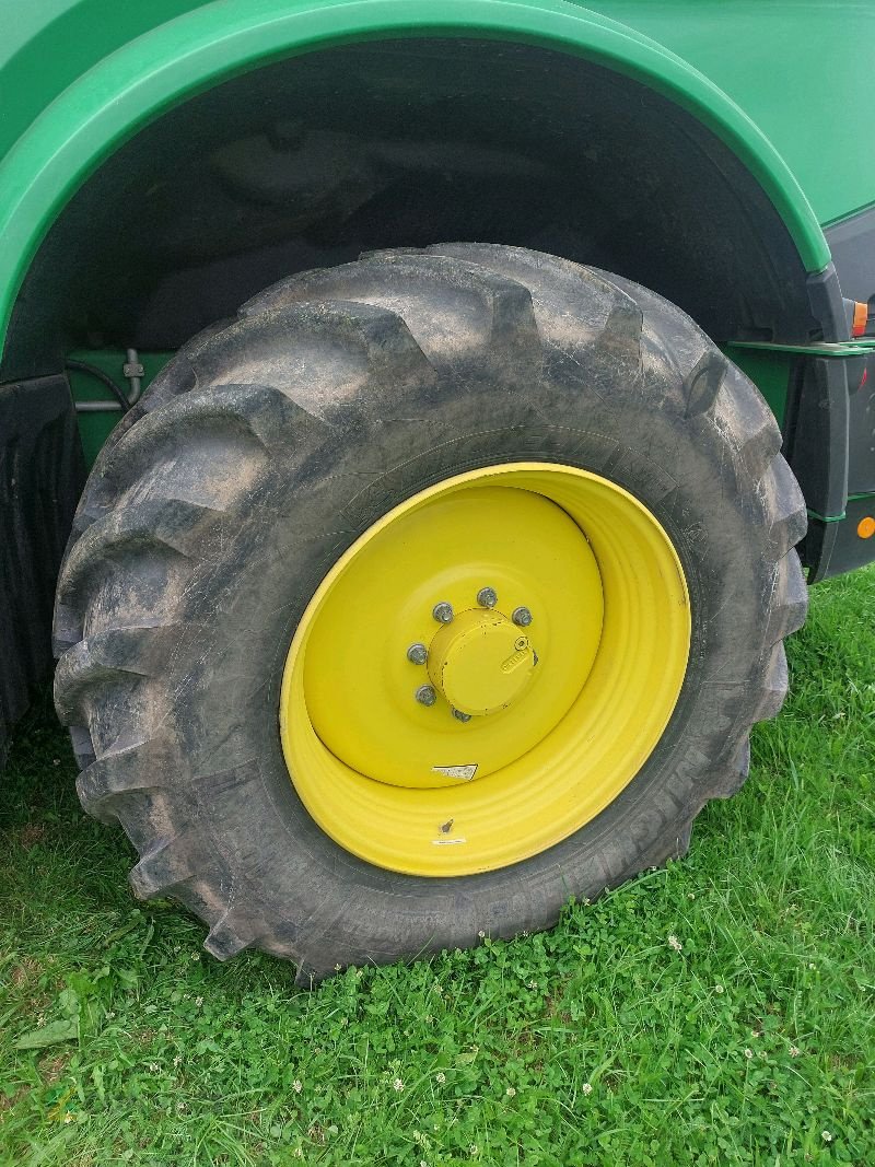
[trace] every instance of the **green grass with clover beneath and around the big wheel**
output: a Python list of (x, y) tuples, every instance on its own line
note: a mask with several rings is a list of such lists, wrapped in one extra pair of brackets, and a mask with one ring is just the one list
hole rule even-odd
[(134, 907), (46, 698), (0, 782), (0, 1162), (875, 1163), (874, 614), (873, 569), (814, 591), (687, 860), (312, 993)]

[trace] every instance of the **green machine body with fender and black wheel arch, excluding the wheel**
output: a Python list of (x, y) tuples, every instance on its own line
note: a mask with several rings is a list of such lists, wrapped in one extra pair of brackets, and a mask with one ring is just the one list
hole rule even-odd
[(0, 740), (50, 663), (118, 390), (363, 251), (518, 244), (656, 289), (780, 420), (810, 582), (875, 558), (870, 4), (0, 0)]

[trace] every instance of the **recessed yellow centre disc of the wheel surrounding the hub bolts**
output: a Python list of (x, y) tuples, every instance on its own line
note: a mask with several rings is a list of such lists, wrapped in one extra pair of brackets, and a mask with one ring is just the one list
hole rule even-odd
[[(453, 787), (457, 780), (435, 767), (476, 763), (480, 782), (516, 761), (570, 708), (598, 649), (601, 580), (580, 527), (541, 494), (481, 481), (439, 488), (372, 527), (337, 565), (313, 621), (303, 665), (308, 719), (335, 757), (383, 783)], [(487, 693), (484, 701), (492, 712), (462, 725), (450, 705), (467, 705), (467, 696), (476, 705), (471, 682), (482, 654), (473, 635), (460, 641), (460, 630), (468, 629), (467, 613), (477, 608), (484, 585), (498, 594), (492, 616), (505, 629), (514, 629), (505, 617), (516, 607), (534, 614), (525, 633), (538, 665), (525, 699), (510, 708), (501, 706), (524, 678), (494, 673), (495, 696)], [(438, 601), (453, 606), (452, 624), (434, 620)], [(485, 615), (471, 615), (480, 613)], [(510, 640), (499, 664), (523, 631), (487, 634), (490, 642)], [(447, 654), (446, 680), (435, 687), (446, 684), (450, 696), (441, 693), (430, 708), (413, 697), (432, 680), (407, 659), (407, 648), (418, 642), (433, 648), (433, 671)], [(502, 682), (510, 684), (499, 692)], [(460, 749), (470, 755), (461, 763)]]

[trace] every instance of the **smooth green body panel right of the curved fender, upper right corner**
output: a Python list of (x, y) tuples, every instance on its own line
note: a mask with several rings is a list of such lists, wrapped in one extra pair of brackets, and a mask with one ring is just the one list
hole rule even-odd
[(672, 49), (760, 126), (824, 225), (875, 203), (873, 0), (587, 0)]

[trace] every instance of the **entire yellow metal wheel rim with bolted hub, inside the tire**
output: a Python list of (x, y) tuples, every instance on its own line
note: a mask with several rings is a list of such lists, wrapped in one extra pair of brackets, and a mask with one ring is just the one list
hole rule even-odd
[(518, 862), (639, 771), (690, 635), (674, 547), (621, 487), (547, 463), (447, 478), (370, 527), (308, 605), (280, 698), (289, 775), (379, 867)]

